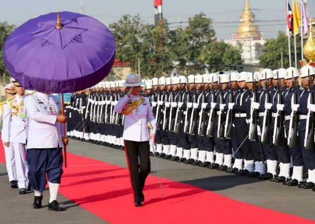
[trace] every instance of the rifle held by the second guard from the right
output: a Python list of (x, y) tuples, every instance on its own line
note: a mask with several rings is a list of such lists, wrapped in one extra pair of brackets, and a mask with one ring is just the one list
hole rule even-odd
[[(294, 73), (292, 70), (292, 89), (293, 89), (293, 104), (298, 104), (298, 93), (295, 91), (296, 85), (294, 80)], [(291, 148), (296, 148), (298, 146), (298, 127), (299, 127), (299, 115), (298, 112), (291, 112), (290, 124), (289, 124), (289, 134), (288, 134), (288, 145)]]

